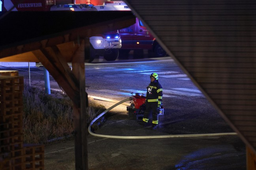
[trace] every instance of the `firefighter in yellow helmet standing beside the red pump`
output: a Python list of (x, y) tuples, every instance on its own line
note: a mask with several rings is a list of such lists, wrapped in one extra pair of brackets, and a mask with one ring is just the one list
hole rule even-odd
[(158, 82), (158, 75), (152, 73), (150, 75), (151, 82), (147, 87), (146, 94), (146, 109), (143, 115), (143, 119), (139, 124), (146, 126), (149, 122), (149, 116), (152, 113), (152, 129), (156, 129), (158, 126), (158, 114), (160, 105), (162, 105), (163, 89), (160, 83)]

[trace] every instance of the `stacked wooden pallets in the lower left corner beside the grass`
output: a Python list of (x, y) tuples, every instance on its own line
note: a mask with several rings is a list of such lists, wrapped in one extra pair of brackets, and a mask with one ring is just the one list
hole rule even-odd
[(44, 147), (23, 145), (23, 76), (0, 71), (0, 169), (43, 170)]

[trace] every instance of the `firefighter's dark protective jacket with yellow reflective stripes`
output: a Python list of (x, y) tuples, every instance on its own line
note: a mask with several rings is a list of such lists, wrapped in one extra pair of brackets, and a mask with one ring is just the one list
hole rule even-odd
[(146, 101), (147, 102), (162, 102), (163, 89), (158, 81), (153, 81), (147, 87)]

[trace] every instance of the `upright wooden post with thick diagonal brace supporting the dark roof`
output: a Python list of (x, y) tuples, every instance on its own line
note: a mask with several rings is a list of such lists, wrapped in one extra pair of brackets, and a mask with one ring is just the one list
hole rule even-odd
[(73, 58), (72, 70), (70, 70), (56, 46), (36, 50), (33, 53), (73, 101), (75, 169), (88, 170), (86, 122), (88, 99), (85, 92), (85, 57)]

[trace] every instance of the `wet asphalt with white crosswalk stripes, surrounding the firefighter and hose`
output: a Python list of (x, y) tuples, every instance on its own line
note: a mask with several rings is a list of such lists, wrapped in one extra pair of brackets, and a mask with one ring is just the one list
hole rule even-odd
[[(133, 60), (136, 61), (136, 60)], [(157, 72), (163, 86), (165, 113), (160, 127), (143, 128), (128, 116), (125, 105), (107, 113), (98, 134), (120, 136), (183, 135), (229, 133), (232, 129), (194, 86), (190, 79), (166, 57), (164, 60), (141, 59), (136, 62), (95, 61), (86, 66), (87, 93), (114, 100), (128, 98), (130, 92), (144, 92), (149, 75)], [(42, 68), (34, 72), (43, 73)], [(28, 80), (28, 72), (19, 72)], [(59, 89), (51, 80), (51, 89)], [(30, 73), (32, 85), (44, 86), (43, 76)], [(98, 101), (106, 108), (114, 103)], [(128, 102), (127, 102), (128, 103)], [(45, 146), (45, 169), (75, 169), (74, 141)], [(164, 139), (111, 139), (88, 135), (90, 170), (245, 170), (245, 145), (236, 135)]]

